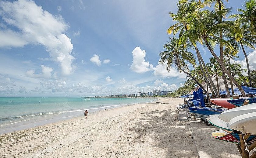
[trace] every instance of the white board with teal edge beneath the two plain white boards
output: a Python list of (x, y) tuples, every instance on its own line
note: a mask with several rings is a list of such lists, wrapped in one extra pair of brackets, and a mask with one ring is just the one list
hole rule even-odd
[(206, 119), (208, 122), (210, 122), (212, 125), (219, 127), (221, 129), (225, 129), (228, 131), (232, 131), (232, 129), (229, 126), (228, 122), (222, 121), (218, 118), (219, 115), (209, 115)]

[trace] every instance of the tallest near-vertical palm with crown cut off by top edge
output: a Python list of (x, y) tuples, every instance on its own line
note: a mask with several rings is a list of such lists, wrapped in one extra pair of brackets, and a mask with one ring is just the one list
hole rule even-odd
[[(228, 2), (228, 0), (226, 0), (226, 2)], [(225, 8), (225, 5), (223, 4), (223, 1), (222, 0), (204, 0), (204, 5), (210, 5), (212, 3), (215, 3), (214, 5), (214, 8), (216, 11), (218, 10), (222, 10)], [(220, 22), (222, 22), (222, 15), (220, 16)], [(223, 39), (223, 33), (222, 33), (222, 30), (220, 29), (219, 30), (219, 38), (222, 40)], [(219, 43), (219, 48), (220, 48), (220, 61), (223, 63), (223, 43), (220, 41)], [(222, 69), (222, 67), (221, 67)], [(227, 91), (227, 96), (230, 97), (230, 93), (229, 93), (229, 87), (228, 87), (228, 83), (227, 83), (227, 80), (226, 80), (226, 75), (225, 73), (223, 72), (222, 70), (222, 78), (223, 78), (223, 81), (224, 81), (224, 84), (225, 84), (225, 88), (226, 88), (226, 91)]]

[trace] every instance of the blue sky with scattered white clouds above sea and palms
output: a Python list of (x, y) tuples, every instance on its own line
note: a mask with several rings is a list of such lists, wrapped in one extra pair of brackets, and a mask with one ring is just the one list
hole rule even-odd
[[(175, 0), (0, 1), (0, 97), (174, 91), (187, 80), (158, 64)], [(240, 0), (226, 7), (243, 8)], [(198, 44), (205, 62), (212, 57)], [(251, 69), (256, 51), (246, 48)], [(218, 54), (218, 53), (217, 53)], [(246, 68), (244, 55), (232, 62)]]

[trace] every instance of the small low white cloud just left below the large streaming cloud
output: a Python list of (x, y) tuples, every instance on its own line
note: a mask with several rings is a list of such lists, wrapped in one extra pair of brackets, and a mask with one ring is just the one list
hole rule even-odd
[(51, 78), (52, 77), (52, 67), (46, 67), (44, 65), (41, 65), (41, 71), (40, 74), (35, 74), (35, 70), (28, 70), (26, 72), (26, 76), (32, 77), (32, 78)]

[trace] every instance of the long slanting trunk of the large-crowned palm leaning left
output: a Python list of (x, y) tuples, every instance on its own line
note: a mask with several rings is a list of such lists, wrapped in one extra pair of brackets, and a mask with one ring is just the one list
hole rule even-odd
[(244, 89), (240, 86), (240, 84), (236, 81), (236, 79), (229, 73), (229, 71), (226, 69), (226, 67), (224, 66), (224, 64), (220, 61), (220, 59), (218, 58), (218, 56), (215, 54), (215, 52), (212, 50), (211, 46), (209, 45), (206, 37), (203, 38), (207, 48), (210, 50), (210, 52), (212, 53), (213, 57), (218, 61), (218, 63), (220, 64), (220, 66), (222, 67), (223, 71), (228, 75), (229, 79), (236, 85), (236, 87), (239, 89), (239, 91), (241, 92), (243, 97), (246, 97)]

